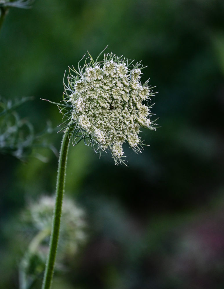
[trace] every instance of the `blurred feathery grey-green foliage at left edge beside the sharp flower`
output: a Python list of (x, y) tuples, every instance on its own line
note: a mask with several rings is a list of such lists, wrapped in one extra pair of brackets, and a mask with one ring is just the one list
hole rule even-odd
[(44, 131), (36, 134), (32, 123), (26, 118), (20, 118), (17, 110), (29, 100), (32, 100), (32, 97), (22, 97), (15, 101), (0, 99), (0, 154), (12, 155), (21, 161), (26, 161), (32, 155), (47, 162), (43, 155), (32, 152), (35, 148), (48, 148), (57, 156), (58, 152), (54, 146), (44, 140), (54, 130), (48, 121)]

